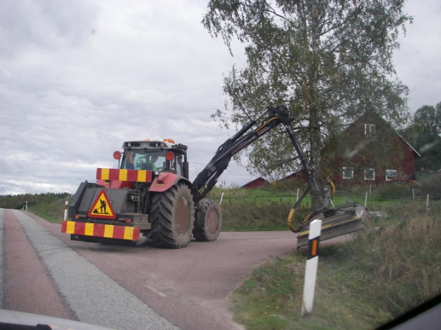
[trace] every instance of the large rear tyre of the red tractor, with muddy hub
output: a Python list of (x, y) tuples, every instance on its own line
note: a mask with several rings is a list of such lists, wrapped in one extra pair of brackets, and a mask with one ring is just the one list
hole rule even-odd
[(194, 206), (192, 193), (186, 184), (155, 194), (150, 211), (150, 244), (170, 249), (187, 246), (195, 224)]

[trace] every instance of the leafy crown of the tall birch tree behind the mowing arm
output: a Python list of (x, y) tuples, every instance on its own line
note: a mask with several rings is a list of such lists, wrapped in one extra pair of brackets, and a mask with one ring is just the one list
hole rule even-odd
[[(320, 176), (324, 139), (364, 111), (400, 125), (407, 87), (395, 76), (391, 55), (400, 28), (411, 22), (404, 2), (209, 1), (203, 24), (212, 36), (245, 45), (246, 67), (224, 78), (226, 112), (213, 117), (242, 127), (268, 105), (286, 104), (298, 139)], [(231, 48), (230, 48), (231, 50)], [(232, 111), (230, 111), (230, 108)], [(227, 116), (226, 114), (231, 114)], [(250, 172), (272, 179), (298, 168), (282, 130), (247, 151)]]

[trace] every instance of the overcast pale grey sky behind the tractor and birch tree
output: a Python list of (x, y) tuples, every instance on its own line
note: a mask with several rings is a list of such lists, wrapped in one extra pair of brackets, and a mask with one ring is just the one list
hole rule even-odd
[[(190, 179), (234, 132), (210, 115), (244, 62), (202, 27), (205, 0), (0, 0), (0, 195), (74, 193), (127, 140), (189, 146)], [(412, 112), (441, 102), (441, 4), (410, 1), (395, 53)], [(226, 185), (254, 179), (231, 164)]]

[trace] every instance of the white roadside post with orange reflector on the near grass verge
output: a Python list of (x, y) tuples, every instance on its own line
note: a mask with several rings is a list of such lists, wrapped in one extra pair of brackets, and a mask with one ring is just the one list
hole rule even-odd
[(306, 260), (305, 286), (303, 287), (302, 316), (312, 312), (315, 279), (319, 264), (319, 241), (322, 232), (322, 220), (314, 220), (309, 226), (308, 260)]

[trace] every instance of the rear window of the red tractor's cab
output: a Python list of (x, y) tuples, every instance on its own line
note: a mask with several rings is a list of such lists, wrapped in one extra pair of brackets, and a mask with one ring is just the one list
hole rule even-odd
[(121, 168), (126, 170), (164, 170), (166, 168), (166, 150), (126, 149)]

